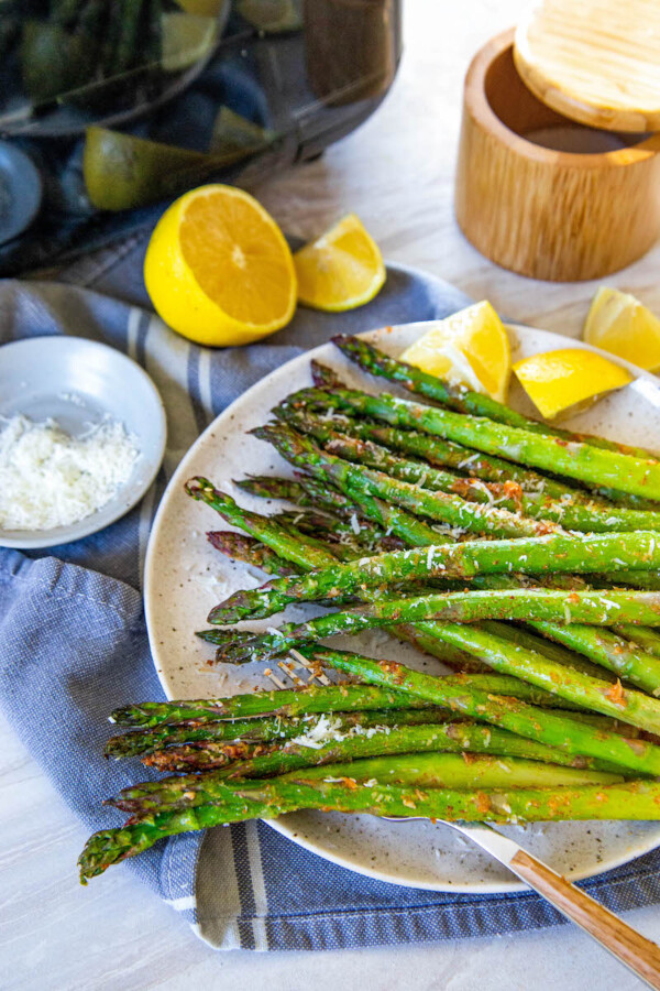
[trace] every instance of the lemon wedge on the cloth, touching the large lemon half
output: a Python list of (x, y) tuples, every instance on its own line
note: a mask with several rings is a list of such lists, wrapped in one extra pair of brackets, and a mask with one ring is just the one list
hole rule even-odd
[(315, 309), (353, 309), (373, 300), (385, 282), (377, 244), (349, 214), (318, 240), (296, 251), (298, 300)]

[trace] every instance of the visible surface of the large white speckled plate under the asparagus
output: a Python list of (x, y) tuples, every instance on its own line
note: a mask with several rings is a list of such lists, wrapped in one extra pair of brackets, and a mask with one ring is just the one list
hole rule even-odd
[[(428, 326), (408, 324), (375, 330), (366, 337), (398, 355)], [(515, 358), (568, 346), (585, 347), (542, 330), (513, 326), (509, 331)], [(145, 607), (153, 656), (169, 698), (232, 695), (265, 684), (260, 674), (262, 665), (218, 668), (207, 664), (212, 650), (194, 635), (195, 630), (206, 627), (211, 606), (238, 588), (260, 584), (260, 573), (246, 565), (232, 565), (208, 544), (205, 531), (226, 525), (212, 510), (185, 494), (184, 482), (191, 476), (205, 475), (244, 504), (263, 512), (264, 501), (232, 489), (231, 479), (246, 473), (290, 473), (290, 469), (272, 448), (245, 432), (264, 423), (270, 410), (289, 392), (311, 383), (310, 358), (340, 369), (362, 388), (378, 388), (378, 380), (361, 375), (330, 344), (301, 355), (266, 375), (218, 416), (183, 459), (165, 492), (147, 551)], [(659, 448), (660, 385), (652, 375), (628, 367), (639, 375), (634, 383), (612, 393), (569, 425)], [(517, 385), (512, 389), (510, 403), (521, 412), (532, 413)], [(266, 511), (275, 508), (273, 503)], [(292, 619), (307, 614), (308, 607), (287, 613)], [(277, 618), (271, 618), (252, 625), (265, 629), (277, 622)], [(354, 642), (360, 643), (358, 639)], [(384, 633), (372, 635), (362, 644), (372, 656), (396, 657), (416, 667), (441, 671), (438, 662), (395, 643)], [(328, 860), (396, 884), (484, 894), (525, 886), (449, 827), (314, 812), (284, 816), (271, 825)], [(660, 843), (660, 825), (656, 823), (554, 823), (507, 827), (503, 831), (572, 879), (625, 863)]]

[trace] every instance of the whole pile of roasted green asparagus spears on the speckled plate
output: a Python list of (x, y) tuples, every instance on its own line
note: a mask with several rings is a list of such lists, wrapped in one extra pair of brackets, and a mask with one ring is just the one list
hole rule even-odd
[[(116, 711), (128, 731), (108, 754), (168, 776), (110, 799), (131, 817), (91, 837), (82, 879), (164, 836), (300, 808), (660, 818), (660, 464), (334, 342), (424, 401), (312, 364), (314, 388), (254, 432), (295, 476), (237, 482), (293, 508), (266, 515), (206, 479), (186, 487), (240, 531), (211, 544), (271, 576), (198, 635), (219, 663), (288, 654), (294, 679), (323, 684)], [(300, 602), (336, 611), (232, 628)], [(376, 627), (455, 673), (319, 644)]]

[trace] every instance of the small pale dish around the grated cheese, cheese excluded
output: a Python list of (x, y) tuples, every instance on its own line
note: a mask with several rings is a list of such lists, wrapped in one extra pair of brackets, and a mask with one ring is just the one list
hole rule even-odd
[(107, 345), (79, 337), (32, 337), (0, 348), (0, 416), (55, 420), (79, 436), (110, 417), (136, 439), (131, 477), (110, 502), (68, 526), (2, 530), (0, 547), (30, 551), (68, 544), (119, 520), (144, 496), (165, 453), (165, 410), (139, 364)]

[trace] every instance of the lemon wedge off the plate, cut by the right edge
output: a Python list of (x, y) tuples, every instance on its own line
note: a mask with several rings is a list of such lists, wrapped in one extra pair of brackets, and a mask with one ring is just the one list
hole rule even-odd
[(582, 337), (640, 368), (660, 369), (660, 320), (628, 293), (602, 285), (592, 301)]

